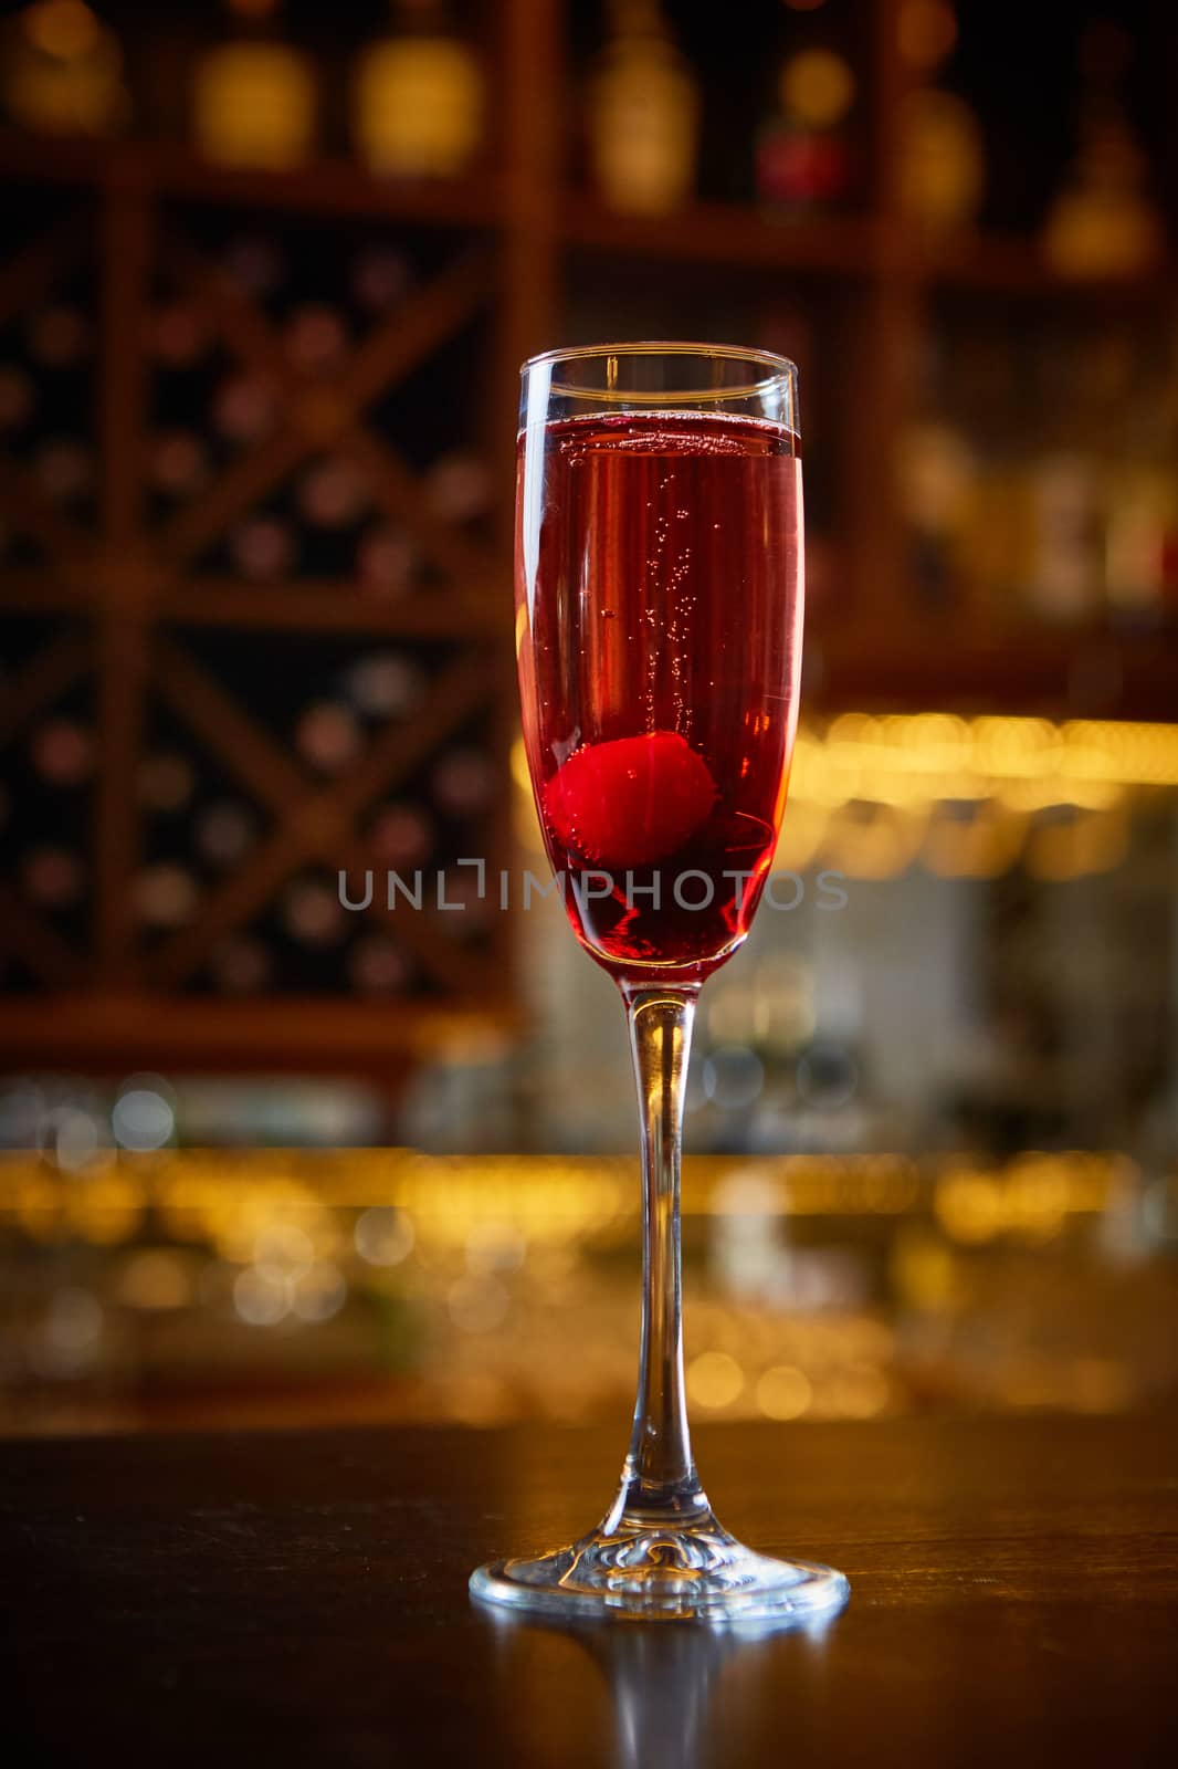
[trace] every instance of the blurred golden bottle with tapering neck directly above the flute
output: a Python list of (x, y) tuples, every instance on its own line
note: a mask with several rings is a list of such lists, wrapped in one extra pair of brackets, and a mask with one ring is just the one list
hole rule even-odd
[(656, 0), (612, 0), (589, 81), (589, 170), (610, 209), (667, 214), (695, 189), (699, 87)]

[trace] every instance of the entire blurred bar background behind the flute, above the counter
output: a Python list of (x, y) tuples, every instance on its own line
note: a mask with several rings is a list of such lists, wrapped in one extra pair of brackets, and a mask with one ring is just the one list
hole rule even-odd
[(1176, 97), (1160, 0), (7, 9), (0, 1429), (621, 1433), (631, 1079), (520, 902), (509, 561), (518, 364), (610, 336), (801, 370), (695, 1410), (1174, 1405)]

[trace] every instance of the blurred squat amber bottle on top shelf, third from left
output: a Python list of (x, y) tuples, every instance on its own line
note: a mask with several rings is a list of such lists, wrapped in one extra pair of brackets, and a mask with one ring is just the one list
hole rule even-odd
[(479, 58), (449, 28), (442, 0), (396, 0), (396, 34), (359, 57), (352, 134), (370, 172), (456, 179), (483, 140)]

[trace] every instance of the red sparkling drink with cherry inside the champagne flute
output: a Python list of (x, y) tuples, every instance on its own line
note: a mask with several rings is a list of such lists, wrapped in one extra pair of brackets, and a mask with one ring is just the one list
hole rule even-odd
[(695, 982), (748, 932), (785, 805), (796, 437), (571, 417), (527, 432), (518, 471), (524, 739), (568, 916), (614, 975)]

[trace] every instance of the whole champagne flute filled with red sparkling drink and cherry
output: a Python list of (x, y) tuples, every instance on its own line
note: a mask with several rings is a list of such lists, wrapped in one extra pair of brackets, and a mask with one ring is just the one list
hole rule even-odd
[(715, 1518), (688, 1438), (683, 1083), (700, 984), (745, 941), (785, 807), (801, 667), (796, 368), (693, 343), (550, 350), (522, 371), (516, 653), (555, 884), (616, 978), (644, 1171), (639, 1396), (621, 1488), (571, 1546), (476, 1597), (548, 1615), (791, 1622), (840, 1573)]

